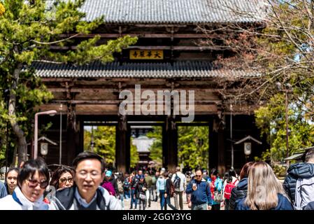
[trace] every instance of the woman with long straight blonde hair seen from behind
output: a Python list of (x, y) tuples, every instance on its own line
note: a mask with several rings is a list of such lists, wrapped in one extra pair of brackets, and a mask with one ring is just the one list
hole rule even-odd
[(255, 162), (248, 176), (248, 195), (235, 210), (293, 210), (283, 186), (266, 162)]

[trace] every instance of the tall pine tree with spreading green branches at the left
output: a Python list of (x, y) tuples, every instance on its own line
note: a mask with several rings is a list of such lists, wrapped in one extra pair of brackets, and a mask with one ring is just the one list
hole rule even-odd
[[(100, 36), (74, 42), (74, 37), (90, 34), (104, 24), (104, 18), (92, 22), (83, 20), (85, 13), (78, 8), (83, 5), (84, 0), (0, 2), (5, 8), (5, 12), (1, 10), (0, 16), (0, 86), (2, 90), (10, 90), (8, 107), (3, 94), (0, 95), (1, 120), (3, 123), (10, 123), (20, 164), (26, 160), (34, 108), (52, 98), (52, 94), (35, 76), (32, 63), (85, 64), (93, 60), (110, 62), (113, 61), (113, 52), (121, 52), (122, 48), (134, 44), (137, 38), (123, 36), (101, 45)], [(62, 37), (62, 34), (67, 37)], [(55, 52), (50, 48), (51, 45), (76, 45), (76, 49)]]

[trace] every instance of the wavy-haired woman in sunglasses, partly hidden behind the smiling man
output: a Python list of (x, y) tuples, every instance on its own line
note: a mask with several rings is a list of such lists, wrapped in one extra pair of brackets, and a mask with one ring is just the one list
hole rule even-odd
[(74, 171), (71, 167), (61, 166), (52, 174), (50, 185), (56, 190), (71, 188), (73, 182)]

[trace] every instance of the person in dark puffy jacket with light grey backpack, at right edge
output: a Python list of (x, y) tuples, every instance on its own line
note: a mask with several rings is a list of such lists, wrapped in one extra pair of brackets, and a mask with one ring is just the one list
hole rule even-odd
[(285, 193), (296, 210), (314, 201), (314, 148), (308, 150), (305, 161), (291, 165), (283, 182)]

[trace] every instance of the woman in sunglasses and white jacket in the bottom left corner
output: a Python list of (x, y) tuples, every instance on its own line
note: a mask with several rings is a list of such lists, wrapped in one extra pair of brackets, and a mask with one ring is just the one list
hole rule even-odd
[(0, 210), (50, 210), (43, 202), (43, 193), (49, 184), (49, 171), (45, 162), (38, 158), (24, 163), (17, 176), (17, 186), (12, 195), (0, 200)]

